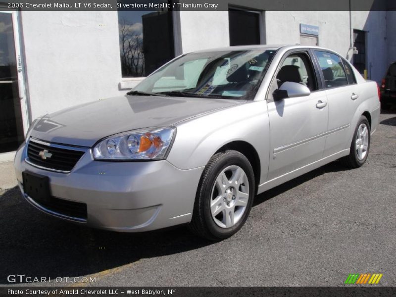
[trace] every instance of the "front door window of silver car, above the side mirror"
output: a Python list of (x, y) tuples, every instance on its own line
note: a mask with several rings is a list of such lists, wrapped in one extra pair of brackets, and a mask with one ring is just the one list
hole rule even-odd
[(301, 52), (293, 53), (283, 61), (276, 81), (278, 88), (284, 82), (294, 82), (307, 86), (311, 92), (318, 89), (311, 60), (307, 54)]

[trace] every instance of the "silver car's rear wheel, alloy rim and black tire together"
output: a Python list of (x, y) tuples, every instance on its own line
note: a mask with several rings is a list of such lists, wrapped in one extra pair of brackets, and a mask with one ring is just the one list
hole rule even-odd
[(362, 115), (353, 134), (349, 155), (342, 159), (344, 164), (351, 168), (362, 166), (367, 160), (370, 140), (370, 124), (367, 118)]

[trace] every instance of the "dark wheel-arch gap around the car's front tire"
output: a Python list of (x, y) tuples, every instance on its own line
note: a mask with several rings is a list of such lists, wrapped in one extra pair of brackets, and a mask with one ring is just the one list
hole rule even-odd
[(257, 150), (248, 142), (239, 140), (239, 141), (232, 141), (230, 143), (223, 145), (221, 148), (217, 149), (215, 154), (229, 149), (239, 151), (240, 153), (242, 153), (247, 157), (251, 167), (253, 168), (254, 188), (255, 188), (254, 194), (257, 195), (258, 184), (260, 182), (260, 176), (261, 176), (261, 163)]

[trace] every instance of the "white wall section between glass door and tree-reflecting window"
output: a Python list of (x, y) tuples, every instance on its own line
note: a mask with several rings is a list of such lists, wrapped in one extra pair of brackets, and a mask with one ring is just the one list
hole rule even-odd
[(116, 11), (22, 11), (21, 22), (33, 119), (120, 93)]

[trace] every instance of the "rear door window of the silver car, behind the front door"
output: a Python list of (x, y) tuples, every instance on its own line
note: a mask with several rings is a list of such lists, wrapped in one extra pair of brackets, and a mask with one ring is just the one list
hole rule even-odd
[(319, 50), (315, 50), (315, 55), (319, 60), (326, 88), (341, 87), (348, 84), (343, 62), (338, 55)]

